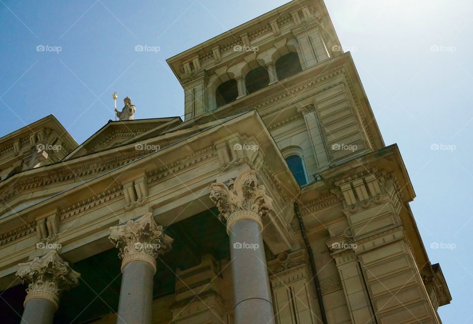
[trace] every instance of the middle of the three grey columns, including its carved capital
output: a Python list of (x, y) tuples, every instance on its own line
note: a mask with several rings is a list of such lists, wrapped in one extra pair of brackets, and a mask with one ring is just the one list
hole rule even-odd
[(152, 213), (110, 227), (108, 238), (122, 259), (117, 324), (151, 324), (156, 257), (170, 250), (172, 239), (156, 225)]

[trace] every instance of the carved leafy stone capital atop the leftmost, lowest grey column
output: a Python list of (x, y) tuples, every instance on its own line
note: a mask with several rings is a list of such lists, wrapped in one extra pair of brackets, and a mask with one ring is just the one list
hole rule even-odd
[(20, 263), (16, 275), (23, 284), (28, 284), (24, 305), (30, 299), (43, 298), (53, 302), (56, 308), (62, 291), (77, 286), (80, 277), (56, 251)]

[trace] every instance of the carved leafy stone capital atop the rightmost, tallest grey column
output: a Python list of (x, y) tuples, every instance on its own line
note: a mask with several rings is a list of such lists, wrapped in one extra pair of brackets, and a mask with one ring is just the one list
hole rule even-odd
[(227, 228), (242, 217), (261, 223), (261, 217), (272, 210), (272, 199), (266, 194), (265, 187), (258, 185), (254, 170), (242, 172), (228, 184), (210, 184), (210, 199), (217, 206), (220, 218), (227, 220)]

